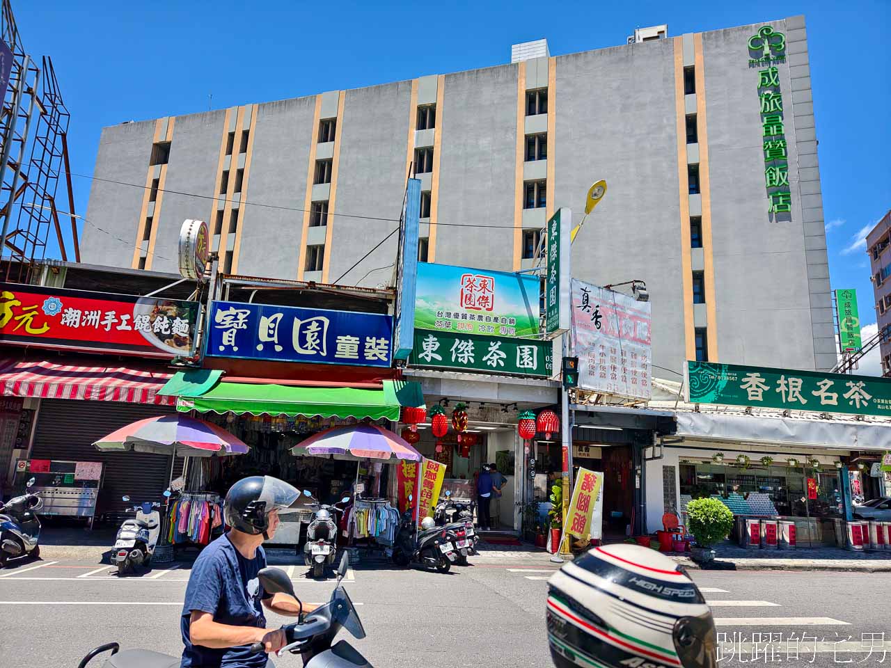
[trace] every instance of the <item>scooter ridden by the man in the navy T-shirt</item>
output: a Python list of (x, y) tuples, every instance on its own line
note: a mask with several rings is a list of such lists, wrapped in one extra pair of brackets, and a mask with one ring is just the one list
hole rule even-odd
[[(356, 639), (365, 637), (356, 607), (340, 584), (347, 574), (347, 555), (340, 559), (337, 574), (337, 585), (331, 592), (331, 599), (306, 618), (303, 616), (303, 604), (294, 593), (287, 573), (281, 568), (267, 566), (257, 574), (264, 591), (288, 594), (297, 599), (299, 605), (298, 622), (282, 626), (288, 644), (276, 652), (276, 656), (286, 653), (302, 655), (305, 668), (372, 668), (372, 664), (346, 640), (334, 643), (340, 629), (346, 629)], [(102, 664), (102, 668), (173, 668), (179, 665), (179, 659), (173, 656), (146, 649), (126, 649), (123, 652), (119, 652), (119, 649), (117, 642), (95, 648), (78, 664), (78, 668), (86, 668), (95, 656), (107, 651), (111, 652), (111, 656)], [(250, 649), (258, 654), (263, 651), (263, 645), (257, 642)]]

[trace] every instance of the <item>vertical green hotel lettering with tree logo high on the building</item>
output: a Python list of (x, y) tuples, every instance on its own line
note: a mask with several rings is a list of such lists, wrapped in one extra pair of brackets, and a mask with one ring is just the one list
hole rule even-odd
[(776, 64), (786, 61), (786, 37), (770, 26), (763, 26), (748, 40), (749, 67), (758, 70), (758, 100), (761, 107), (764, 185), (769, 202), (768, 213), (790, 214), (789, 144), (786, 140), (780, 70)]

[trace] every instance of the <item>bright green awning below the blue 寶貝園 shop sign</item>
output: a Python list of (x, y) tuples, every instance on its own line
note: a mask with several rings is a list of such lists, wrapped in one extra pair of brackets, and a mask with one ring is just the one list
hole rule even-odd
[(204, 392), (196, 388), (193, 384), (192, 391), (177, 395), (177, 411), (399, 420), (403, 406), (424, 405), (421, 385), (405, 380), (384, 380), (380, 389), (226, 382)]

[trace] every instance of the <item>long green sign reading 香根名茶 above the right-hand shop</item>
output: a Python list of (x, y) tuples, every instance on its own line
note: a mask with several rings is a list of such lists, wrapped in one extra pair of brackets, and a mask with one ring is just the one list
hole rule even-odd
[(891, 416), (891, 380), (740, 364), (687, 363), (691, 403)]

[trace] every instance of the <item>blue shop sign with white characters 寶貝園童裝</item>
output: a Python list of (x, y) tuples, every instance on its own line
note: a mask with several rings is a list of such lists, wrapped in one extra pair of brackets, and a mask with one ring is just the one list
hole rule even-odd
[(212, 302), (205, 354), (388, 367), (392, 337), (389, 315)]

